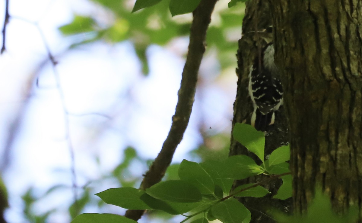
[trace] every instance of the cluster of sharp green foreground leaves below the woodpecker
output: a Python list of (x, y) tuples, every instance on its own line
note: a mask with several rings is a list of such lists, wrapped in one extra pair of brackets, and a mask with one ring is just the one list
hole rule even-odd
[[(236, 124), (235, 138), (256, 154), (261, 165), (244, 155), (224, 160), (210, 160), (201, 163), (183, 160), (178, 166), (178, 179), (166, 180), (146, 190), (133, 187), (110, 188), (97, 193), (105, 203), (135, 210), (161, 210), (171, 215), (183, 214), (191, 222), (207, 222), (219, 219), (222, 222), (248, 223), (250, 211), (234, 197), (263, 197), (270, 193), (261, 183), (245, 184), (231, 191), (234, 180), (259, 174), (270, 175), (270, 179), (281, 176), (283, 185), (274, 198), (286, 199), (291, 196), (289, 174), (289, 147), (278, 148), (264, 160), (265, 137), (246, 124)], [(185, 215), (190, 213), (189, 215)], [(73, 223), (117, 222), (125, 217), (112, 214), (82, 214)], [(94, 219), (99, 219), (94, 221)], [(126, 221), (125, 221), (126, 222)], [(134, 222), (127, 219), (127, 222)]]

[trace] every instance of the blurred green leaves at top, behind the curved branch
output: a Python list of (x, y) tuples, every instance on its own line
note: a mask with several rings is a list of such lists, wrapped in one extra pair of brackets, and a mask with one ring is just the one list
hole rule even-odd
[[(191, 12), (200, 0), (138, 0), (133, 10), (129, 8), (127, 0), (91, 1), (103, 8), (109, 16), (100, 18), (97, 14), (75, 14), (71, 22), (59, 27), (63, 35), (73, 38), (74, 43), (70, 48), (99, 40), (107, 43), (130, 40), (142, 63), (143, 73), (148, 74), (147, 47), (151, 44), (165, 45), (174, 38), (187, 36), (190, 30), (190, 18), (188, 16), (172, 18), (172, 16), (175, 13)], [(131, 13), (131, 10), (135, 13)], [(219, 17), (219, 22), (209, 27), (207, 45), (216, 47), (220, 65), (224, 68), (236, 62), (234, 54), (237, 49), (237, 39), (230, 39), (230, 36), (236, 30), (238, 34), (240, 32), (244, 5), (222, 9), (214, 14)]]

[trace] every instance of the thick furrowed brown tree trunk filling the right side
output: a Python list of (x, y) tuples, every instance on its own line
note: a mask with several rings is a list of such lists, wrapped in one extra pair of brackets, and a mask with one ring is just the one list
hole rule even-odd
[(295, 212), (306, 210), (316, 185), (338, 213), (351, 205), (361, 210), (362, 2), (272, 2)]

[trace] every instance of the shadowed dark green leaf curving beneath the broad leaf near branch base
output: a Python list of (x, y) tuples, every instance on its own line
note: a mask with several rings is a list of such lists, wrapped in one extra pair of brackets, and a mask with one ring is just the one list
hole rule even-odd
[(143, 194), (140, 199), (150, 206), (153, 210), (161, 210), (165, 211), (169, 214), (184, 214), (189, 212), (190, 210), (195, 209), (203, 205), (203, 202), (192, 202), (192, 203), (185, 203), (185, 202), (171, 202), (171, 201), (162, 201), (151, 197), (147, 193)]

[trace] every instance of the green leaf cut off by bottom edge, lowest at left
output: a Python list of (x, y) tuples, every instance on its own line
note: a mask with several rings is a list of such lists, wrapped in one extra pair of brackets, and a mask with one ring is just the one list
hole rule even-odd
[(117, 214), (94, 214), (94, 213), (85, 213), (78, 215), (71, 223), (137, 223), (134, 220), (126, 218)]

